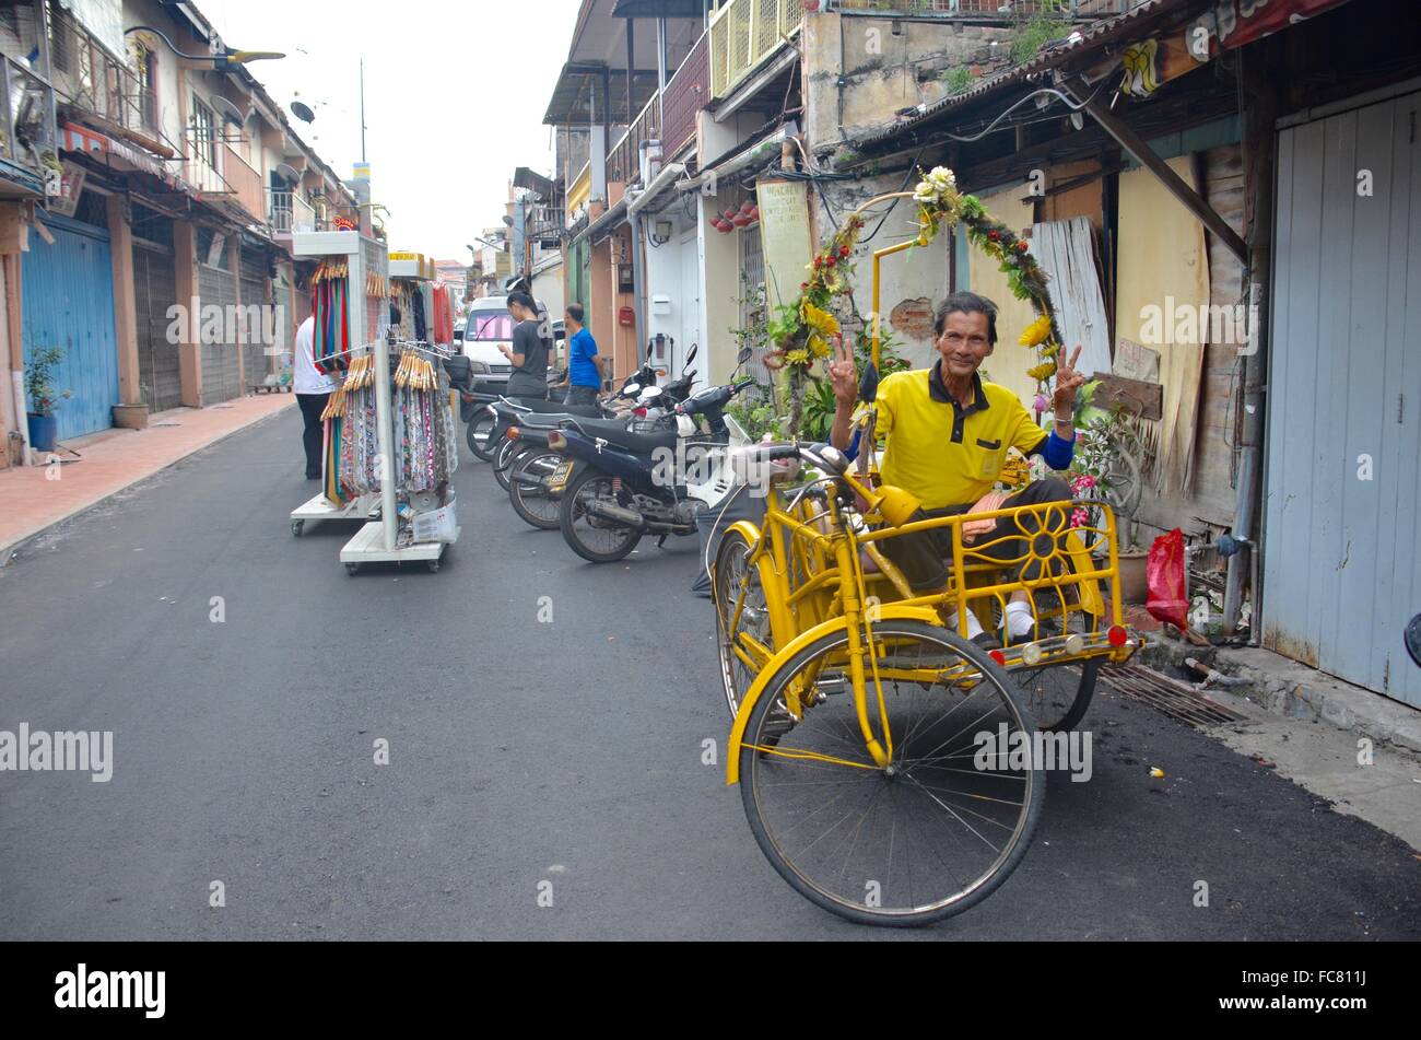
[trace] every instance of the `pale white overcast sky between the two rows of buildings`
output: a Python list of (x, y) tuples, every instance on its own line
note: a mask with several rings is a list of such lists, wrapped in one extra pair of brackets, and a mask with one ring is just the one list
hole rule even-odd
[[(469, 261), (500, 223), (516, 166), (550, 173), (543, 112), (567, 58), (578, 0), (199, 0), (223, 43), (284, 51), (249, 65), (301, 138), (341, 178), (365, 155), (394, 250)], [(291, 117), (301, 99), (315, 122)]]

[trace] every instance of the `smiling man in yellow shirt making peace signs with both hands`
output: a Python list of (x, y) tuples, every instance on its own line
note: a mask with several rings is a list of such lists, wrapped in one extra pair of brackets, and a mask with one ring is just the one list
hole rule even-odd
[[(1034, 480), (1005, 500), (988, 496), (1010, 448), (1027, 457), (1040, 455), (1056, 470), (1070, 466), (1076, 443), (1076, 391), (1086, 382), (1074, 368), (1080, 348), (1070, 359), (1061, 357), (1053, 395), (1056, 422), (1046, 432), (1012, 391), (985, 382), (978, 374), (996, 347), (996, 304), (975, 293), (953, 293), (938, 307), (934, 330), (938, 362), (929, 369), (894, 372), (878, 385), (877, 433), (887, 436), (882, 482), (902, 487), (922, 502), (915, 520), (971, 513), (973, 507), (988, 511), (1070, 502), (1070, 484), (1060, 477)], [(858, 371), (850, 348), (840, 347), (830, 364), (830, 378), (836, 398), (830, 440), (838, 449), (848, 449), (858, 401)], [(1010, 517), (1002, 517), (993, 530), (979, 534), (976, 540), (1000, 540), (983, 553), (1015, 558), (1022, 556), (1019, 538), (1033, 534), (1037, 523), (1030, 516), (1020, 526)], [(946, 590), (946, 561), (952, 550), (949, 527), (902, 534), (881, 544), (917, 594)], [(956, 618), (951, 617), (949, 624), (955, 625)], [(1030, 602), (1025, 592), (1017, 592), (1007, 604), (1007, 632), (1013, 639), (1020, 638), (1032, 631), (1032, 624)], [(971, 615), (968, 632), (983, 645), (996, 642), (990, 634), (980, 631), (980, 624)]]

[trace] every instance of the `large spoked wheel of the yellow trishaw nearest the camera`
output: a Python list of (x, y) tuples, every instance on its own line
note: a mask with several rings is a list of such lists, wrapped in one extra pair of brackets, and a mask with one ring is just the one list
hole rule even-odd
[[(830, 632), (786, 661), (750, 710), (740, 796), (760, 850), (800, 895), (860, 923), (925, 925), (985, 899), (1026, 854), (1046, 790), (1029, 753), (1036, 727), (1012, 678), (955, 632), (902, 619), (872, 634), (882, 715), (871, 679), (865, 698), (880, 736), (887, 716), (888, 763), (865, 749), (848, 634)], [(780, 702), (796, 698), (809, 706), (786, 732)]]

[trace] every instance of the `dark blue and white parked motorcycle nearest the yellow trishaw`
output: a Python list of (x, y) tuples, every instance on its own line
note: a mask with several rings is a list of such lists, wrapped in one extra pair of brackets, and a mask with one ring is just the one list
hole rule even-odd
[[(749, 357), (742, 350), (740, 364)], [(558, 527), (568, 547), (590, 563), (614, 563), (647, 534), (659, 536), (658, 544), (672, 534), (695, 534), (696, 516), (730, 493), (736, 453), (752, 448), (725, 408), (753, 385), (743, 378), (693, 394), (678, 405), (675, 429), (638, 432), (617, 422), (566, 419), (549, 443), (567, 459), (546, 483), (561, 490)]]

